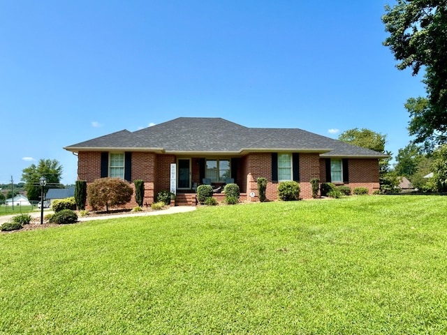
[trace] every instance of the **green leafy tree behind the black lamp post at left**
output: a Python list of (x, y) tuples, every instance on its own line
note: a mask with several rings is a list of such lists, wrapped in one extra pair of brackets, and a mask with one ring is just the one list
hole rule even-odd
[(41, 195), (41, 186), (39, 179), (44, 176), (47, 178), (46, 190), (57, 187), (62, 175), (62, 165), (55, 159), (41, 159), (38, 165), (31, 164), (28, 168), (22, 170), (22, 181), (25, 183), (27, 196), (29, 200), (39, 200)]

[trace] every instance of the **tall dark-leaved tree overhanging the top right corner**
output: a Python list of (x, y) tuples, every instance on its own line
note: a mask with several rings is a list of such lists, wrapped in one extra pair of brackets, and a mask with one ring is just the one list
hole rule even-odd
[(405, 106), (412, 118), (409, 133), (416, 135), (416, 143), (443, 143), (447, 139), (447, 0), (398, 0), (385, 10), (382, 21), (390, 36), (383, 45), (400, 61), (397, 68), (411, 68), (413, 75), (425, 68), (427, 97), (410, 98)]

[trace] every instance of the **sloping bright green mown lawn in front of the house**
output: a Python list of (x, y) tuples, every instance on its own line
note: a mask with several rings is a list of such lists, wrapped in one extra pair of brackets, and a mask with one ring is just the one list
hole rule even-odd
[(447, 198), (0, 234), (0, 334), (446, 334)]

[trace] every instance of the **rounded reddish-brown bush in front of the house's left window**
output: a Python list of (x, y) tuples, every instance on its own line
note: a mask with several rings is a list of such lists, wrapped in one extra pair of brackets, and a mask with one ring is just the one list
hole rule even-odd
[(108, 211), (110, 207), (126, 204), (132, 194), (131, 186), (119, 178), (96, 179), (87, 186), (87, 200), (94, 211), (103, 207)]

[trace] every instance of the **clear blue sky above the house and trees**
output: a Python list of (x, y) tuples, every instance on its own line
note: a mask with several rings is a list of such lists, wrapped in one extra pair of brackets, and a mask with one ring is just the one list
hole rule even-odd
[(177, 117), (411, 138), (404, 103), (425, 94), (399, 71), (381, 22), (394, 1), (0, 0), (0, 184), (62, 149)]

